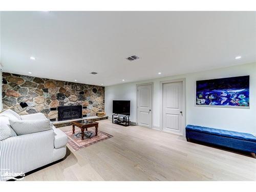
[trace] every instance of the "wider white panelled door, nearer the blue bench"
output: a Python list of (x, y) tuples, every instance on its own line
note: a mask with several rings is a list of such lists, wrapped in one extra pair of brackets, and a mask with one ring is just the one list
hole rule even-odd
[(162, 87), (163, 131), (183, 135), (182, 82), (164, 83)]

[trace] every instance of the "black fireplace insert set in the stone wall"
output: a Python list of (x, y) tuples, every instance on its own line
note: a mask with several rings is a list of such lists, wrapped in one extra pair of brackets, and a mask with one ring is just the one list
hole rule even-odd
[(58, 107), (58, 121), (79, 118), (82, 118), (82, 105)]

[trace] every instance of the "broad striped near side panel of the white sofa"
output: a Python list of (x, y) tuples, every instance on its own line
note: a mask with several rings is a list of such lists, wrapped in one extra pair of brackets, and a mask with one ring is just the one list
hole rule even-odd
[[(9, 137), (0, 141), (0, 170), (28, 173), (54, 159), (53, 130)], [(0, 174), (0, 181), (10, 179)]]

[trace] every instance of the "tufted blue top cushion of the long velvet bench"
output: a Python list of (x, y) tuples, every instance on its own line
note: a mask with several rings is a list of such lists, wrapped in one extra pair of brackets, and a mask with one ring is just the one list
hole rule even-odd
[(214, 129), (214, 128), (210, 128), (210, 127), (197, 126), (197, 125), (187, 125), (186, 130), (207, 133), (207, 134), (217, 135), (217, 136), (222, 136), (222, 137), (229, 137), (229, 138), (233, 138), (233, 139), (240, 139), (240, 140), (256, 142), (256, 137), (249, 133), (241, 133), (241, 132), (234, 132), (234, 131), (228, 131), (228, 130)]

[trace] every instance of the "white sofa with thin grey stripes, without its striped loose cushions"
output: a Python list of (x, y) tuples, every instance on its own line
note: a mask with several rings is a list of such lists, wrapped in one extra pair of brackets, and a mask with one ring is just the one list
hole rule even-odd
[[(0, 114), (0, 126), (9, 126), (12, 120), (43, 120), (42, 113), (19, 116), (12, 110)], [(11, 127), (10, 127), (11, 129)], [(52, 129), (27, 135), (19, 135), (11, 129), (11, 137), (0, 141), (0, 181), (10, 179), (7, 173), (20, 174), (30, 172), (47, 165), (66, 155), (68, 137), (61, 130)]]

